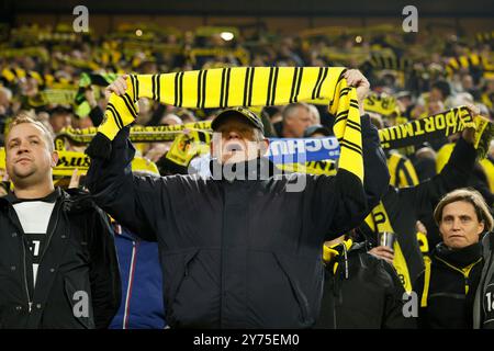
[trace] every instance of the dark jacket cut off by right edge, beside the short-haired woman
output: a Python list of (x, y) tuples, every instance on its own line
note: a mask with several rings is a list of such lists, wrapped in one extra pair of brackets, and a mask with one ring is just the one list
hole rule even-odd
[(473, 328), (494, 329), (494, 233), (482, 239), (484, 267), (473, 304)]

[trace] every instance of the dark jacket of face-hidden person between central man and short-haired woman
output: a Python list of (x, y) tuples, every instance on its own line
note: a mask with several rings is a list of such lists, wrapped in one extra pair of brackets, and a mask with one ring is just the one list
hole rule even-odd
[[(336, 272), (335, 262), (338, 263)], [(347, 254), (339, 254), (335, 262), (326, 264), (316, 328), (416, 327), (415, 318), (403, 314), (407, 299), (403, 298), (405, 290), (396, 271), (386, 261), (368, 253), (364, 242), (353, 244)]]

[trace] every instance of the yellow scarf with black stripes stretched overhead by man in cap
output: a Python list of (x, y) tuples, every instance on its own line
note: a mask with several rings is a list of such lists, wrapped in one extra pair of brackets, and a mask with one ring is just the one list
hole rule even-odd
[(235, 67), (162, 75), (131, 75), (124, 95), (112, 94), (105, 118), (87, 149), (109, 158), (111, 144), (137, 117), (136, 101), (149, 98), (180, 107), (284, 105), (324, 100), (336, 116), (334, 133), (341, 147), (339, 168), (363, 180), (360, 113), (355, 88), (344, 67)]

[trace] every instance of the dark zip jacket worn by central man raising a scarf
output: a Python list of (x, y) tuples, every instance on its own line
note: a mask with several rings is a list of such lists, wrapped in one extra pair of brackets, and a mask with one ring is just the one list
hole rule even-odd
[[(357, 226), (388, 186), (369, 117), (362, 131), (366, 186), (345, 170), (245, 181), (133, 177), (128, 128), (108, 161), (91, 160), (87, 184), (119, 223), (158, 240), (171, 327), (307, 328), (319, 312), (326, 234)], [(301, 191), (287, 191), (296, 182), (305, 182)]]

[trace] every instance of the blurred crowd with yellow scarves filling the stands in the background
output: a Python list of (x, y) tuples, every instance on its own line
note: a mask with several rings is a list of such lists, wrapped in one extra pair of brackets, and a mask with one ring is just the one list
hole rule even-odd
[[(92, 126), (90, 109), (80, 106), (81, 101), (104, 110), (106, 97), (101, 82), (91, 87), (81, 79), (82, 73), (156, 73), (234, 66), (359, 68), (369, 78), (375, 98), (383, 99), (374, 109), (370, 101), (368, 110), (384, 117), (384, 125), (473, 102), (483, 115), (492, 116), (492, 32), (471, 33), (461, 27), (437, 31), (434, 25), (417, 33), (381, 24), (324, 26), (282, 35), (267, 29), (199, 26), (180, 31), (122, 23), (115, 31), (96, 35), (74, 33), (70, 22), (56, 26), (23, 24), (8, 29), (1, 44), (0, 123), (4, 128), (9, 117), (29, 110), (55, 134), (63, 127)], [(141, 100), (139, 107), (137, 124), (147, 126), (212, 118), (215, 113), (177, 110), (146, 99)], [(268, 126), (268, 136), (282, 136), (281, 107), (263, 111), (274, 126)], [(325, 107), (318, 110), (321, 123), (330, 127)], [(142, 150), (157, 161), (167, 147), (147, 145)]]

